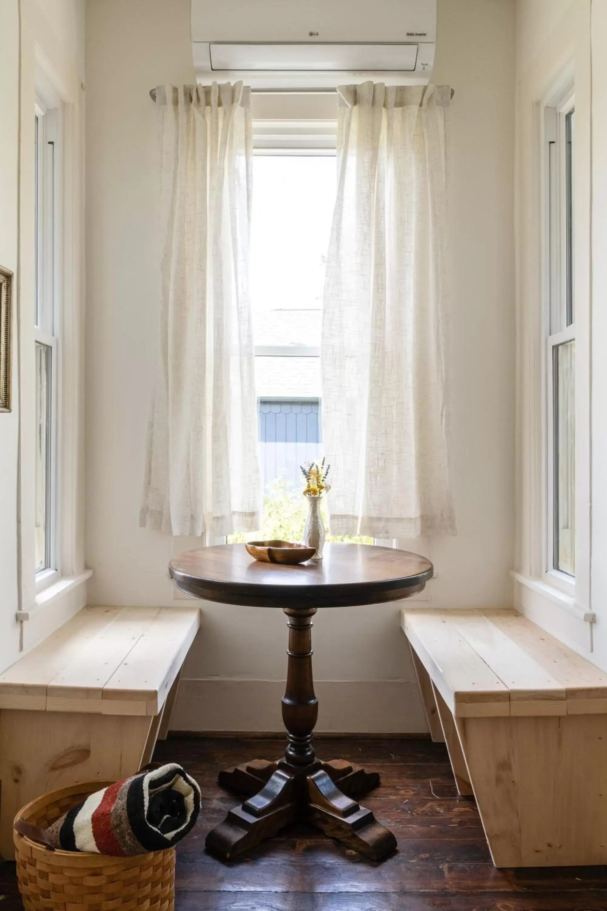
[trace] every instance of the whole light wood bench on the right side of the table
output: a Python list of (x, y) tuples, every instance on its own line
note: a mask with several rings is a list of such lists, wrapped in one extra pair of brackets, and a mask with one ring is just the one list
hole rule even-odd
[(404, 609), (401, 626), (493, 863), (607, 864), (607, 674), (515, 610)]

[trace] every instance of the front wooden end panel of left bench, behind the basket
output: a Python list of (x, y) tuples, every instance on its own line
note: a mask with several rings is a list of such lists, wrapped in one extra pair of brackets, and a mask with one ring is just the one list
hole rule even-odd
[(0, 854), (15, 856), (13, 820), (35, 797), (136, 773), (155, 719), (63, 711), (0, 711)]

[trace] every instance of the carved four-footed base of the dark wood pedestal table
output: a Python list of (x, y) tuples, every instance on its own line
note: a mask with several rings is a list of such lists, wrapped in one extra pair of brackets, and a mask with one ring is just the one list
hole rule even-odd
[[(377, 773), (344, 760), (313, 763), (293, 773), (278, 763), (253, 760), (219, 773), (219, 783), (249, 799), (207, 835), (207, 849), (229, 860), (297, 819), (371, 860), (396, 849), (396, 838), (357, 799), (379, 785)], [(261, 788), (261, 790), (259, 790)]]

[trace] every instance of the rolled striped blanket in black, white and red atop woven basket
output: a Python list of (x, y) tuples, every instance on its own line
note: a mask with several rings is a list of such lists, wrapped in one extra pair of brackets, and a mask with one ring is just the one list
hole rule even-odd
[(90, 794), (46, 829), (47, 843), (64, 851), (124, 857), (172, 847), (190, 831), (200, 789), (169, 763)]

